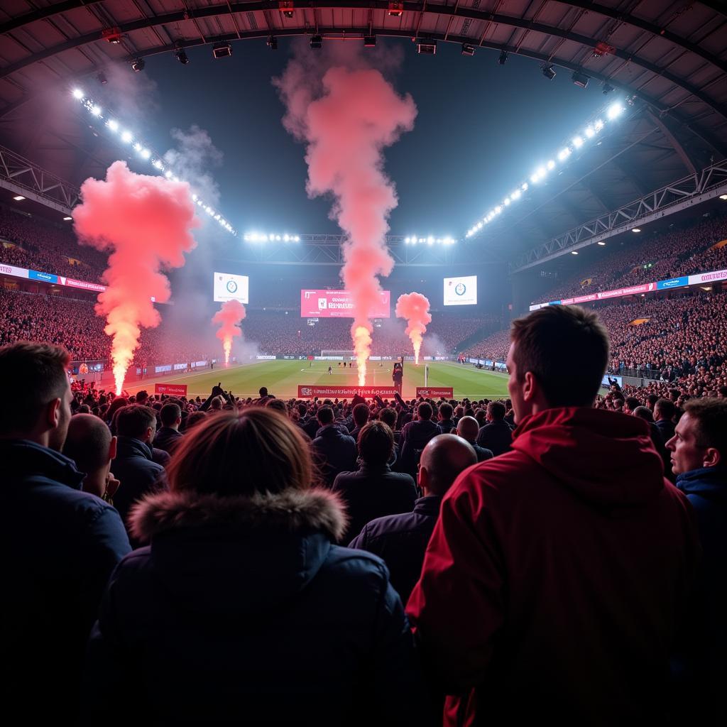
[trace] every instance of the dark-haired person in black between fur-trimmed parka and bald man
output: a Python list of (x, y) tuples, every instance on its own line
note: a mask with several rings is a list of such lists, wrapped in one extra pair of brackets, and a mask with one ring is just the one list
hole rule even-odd
[(410, 513), (417, 499), (417, 486), (405, 473), (392, 472), (388, 465), (394, 450), (394, 435), (384, 422), (369, 422), (358, 435), (357, 472), (342, 472), (333, 483), (350, 518), (343, 542), (374, 518)]

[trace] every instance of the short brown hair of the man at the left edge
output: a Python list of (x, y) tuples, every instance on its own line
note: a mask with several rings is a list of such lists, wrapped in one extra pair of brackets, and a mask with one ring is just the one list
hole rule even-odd
[(31, 430), (43, 407), (63, 398), (70, 360), (65, 348), (45, 343), (0, 348), (0, 434)]

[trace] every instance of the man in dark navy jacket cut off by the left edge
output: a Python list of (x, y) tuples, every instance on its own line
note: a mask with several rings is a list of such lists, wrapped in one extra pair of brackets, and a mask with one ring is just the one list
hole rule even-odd
[(89, 630), (130, 550), (119, 514), (81, 491), (84, 475), (60, 454), (73, 398), (67, 367), (56, 346), (0, 348), (3, 709), (27, 724), (77, 721)]

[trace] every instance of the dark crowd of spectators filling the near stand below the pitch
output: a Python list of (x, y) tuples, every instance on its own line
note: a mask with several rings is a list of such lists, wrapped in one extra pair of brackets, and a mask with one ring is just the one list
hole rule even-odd
[(599, 395), (580, 308), (511, 338), (506, 401), (115, 397), (0, 348), (6, 710), (720, 723), (727, 392)]

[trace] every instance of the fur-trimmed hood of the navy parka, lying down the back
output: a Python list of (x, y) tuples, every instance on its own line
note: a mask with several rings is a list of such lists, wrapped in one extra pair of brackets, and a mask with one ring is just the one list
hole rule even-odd
[(337, 497), (321, 489), (251, 497), (160, 492), (129, 517), (151, 539), (154, 579), (183, 608), (254, 614), (300, 593), (347, 526)]

